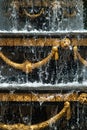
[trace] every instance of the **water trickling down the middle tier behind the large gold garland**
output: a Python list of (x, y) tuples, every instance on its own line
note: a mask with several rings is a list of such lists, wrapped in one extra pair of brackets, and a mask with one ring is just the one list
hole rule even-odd
[[(79, 50), (84, 51), (84, 57), (86, 57), (86, 48), (81, 47)], [(17, 63), (23, 63), (25, 60), (34, 63), (49, 55), (51, 47), (2, 47), (1, 51)], [(1, 60), (0, 82), (21, 85), (37, 82), (39, 86), (41, 84), (57, 86), (59, 83), (84, 83), (87, 81), (86, 71), (87, 68), (82, 63), (74, 61), (72, 50), (60, 48), (58, 61), (52, 58), (47, 64), (34, 69), (29, 74), (9, 67)]]

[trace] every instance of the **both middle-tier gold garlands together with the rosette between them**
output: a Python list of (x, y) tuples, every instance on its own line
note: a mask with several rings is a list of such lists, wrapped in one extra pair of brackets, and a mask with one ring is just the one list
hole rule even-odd
[[(49, 62), (49, 60), (51, 58), (55, 58), (55, 60), (59, 59), (59, 54), (58, 54), (58, 47), (62, 47), (64, 49), (69, 48), (70, 46), (73, 47), (72, 42), (70, 41), (70, 39), (68, 38), (64, 38), (60, 41), (55, 40), (54, 43), (56, 44), (55, 46), (52, 47), (52, 51), (51, 53), (44, 59), (42, 59), (41, 61), (38, 61), (36, 63), (32, 63), (28, 60), (24, 61), (23, 63), (19, 64), (16, 62), (13, 62), (12, 60), (10, 60), (7, 56), (5, 56), (2, 52), (0, 52), (0, 58), (6, 62), (8, 65), (12, 66), (15, 69), (19, 69), (24, 71), (25, 73), (30, 73), (32, 72), (33, 69), (35, 68), (39, 68), (45, 64), (47, 64), (47, 62)], [(74, 43), (75, 44), (75, 43)], [(74, 51), (74, 59), (77, 60), (79, 59), (80, 62), (82, 64), (84, 64), (85, 66), (87, 66), (87, 61), (81, 57), (80, 53), (78, 52), (78, 48), (77, 48), (77, 44), (74, 45), (73, 47), (73, 51)]]

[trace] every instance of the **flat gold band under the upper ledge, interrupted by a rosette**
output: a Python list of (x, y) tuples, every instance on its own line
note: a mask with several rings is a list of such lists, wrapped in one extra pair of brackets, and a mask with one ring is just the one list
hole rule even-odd
[[(59, 38), (0, 38), (0, 46), (58, 46), (60, 41)], [(87, 46), (87, 38), (71, 41), (72, 46)]]

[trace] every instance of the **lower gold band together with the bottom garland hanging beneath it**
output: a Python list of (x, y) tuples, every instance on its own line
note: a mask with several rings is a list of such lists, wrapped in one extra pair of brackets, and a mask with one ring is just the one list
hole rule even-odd
[(87, 93), (81, 93), (80, 95), (78, 93), (67, 93), (67, 94), (6, 94), (1, 93), (0, 94), (0, 101), (38, 101), (38, 102), (65, 102), (64, 108), (56, 114), (54, 117), (48, 119), (47, 121), (44, 121), (39, 124), (35, 125), (24, 125), (24, 124), (0, 124), (1, 130), (42, 130), (44, 128), (47, 128), (50, 124), (56, 123), (59, 119), (61, 119), (63, 116), (66, 116), (67, 120), (70, 120), (71, 118), (71, 108), (70, 108), (70, 101), (78, 101), (80, 103), (87, 103)]

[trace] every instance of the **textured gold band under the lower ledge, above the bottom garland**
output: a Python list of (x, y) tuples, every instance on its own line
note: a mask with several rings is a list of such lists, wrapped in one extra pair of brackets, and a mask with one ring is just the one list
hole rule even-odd
[[(34, 93), (0, 93), (1, 102), (82, 102), (87, 103), (87, 93), (68, 94), (34, 94)], [(84, 102), (83, 102), (84, 103)]]

